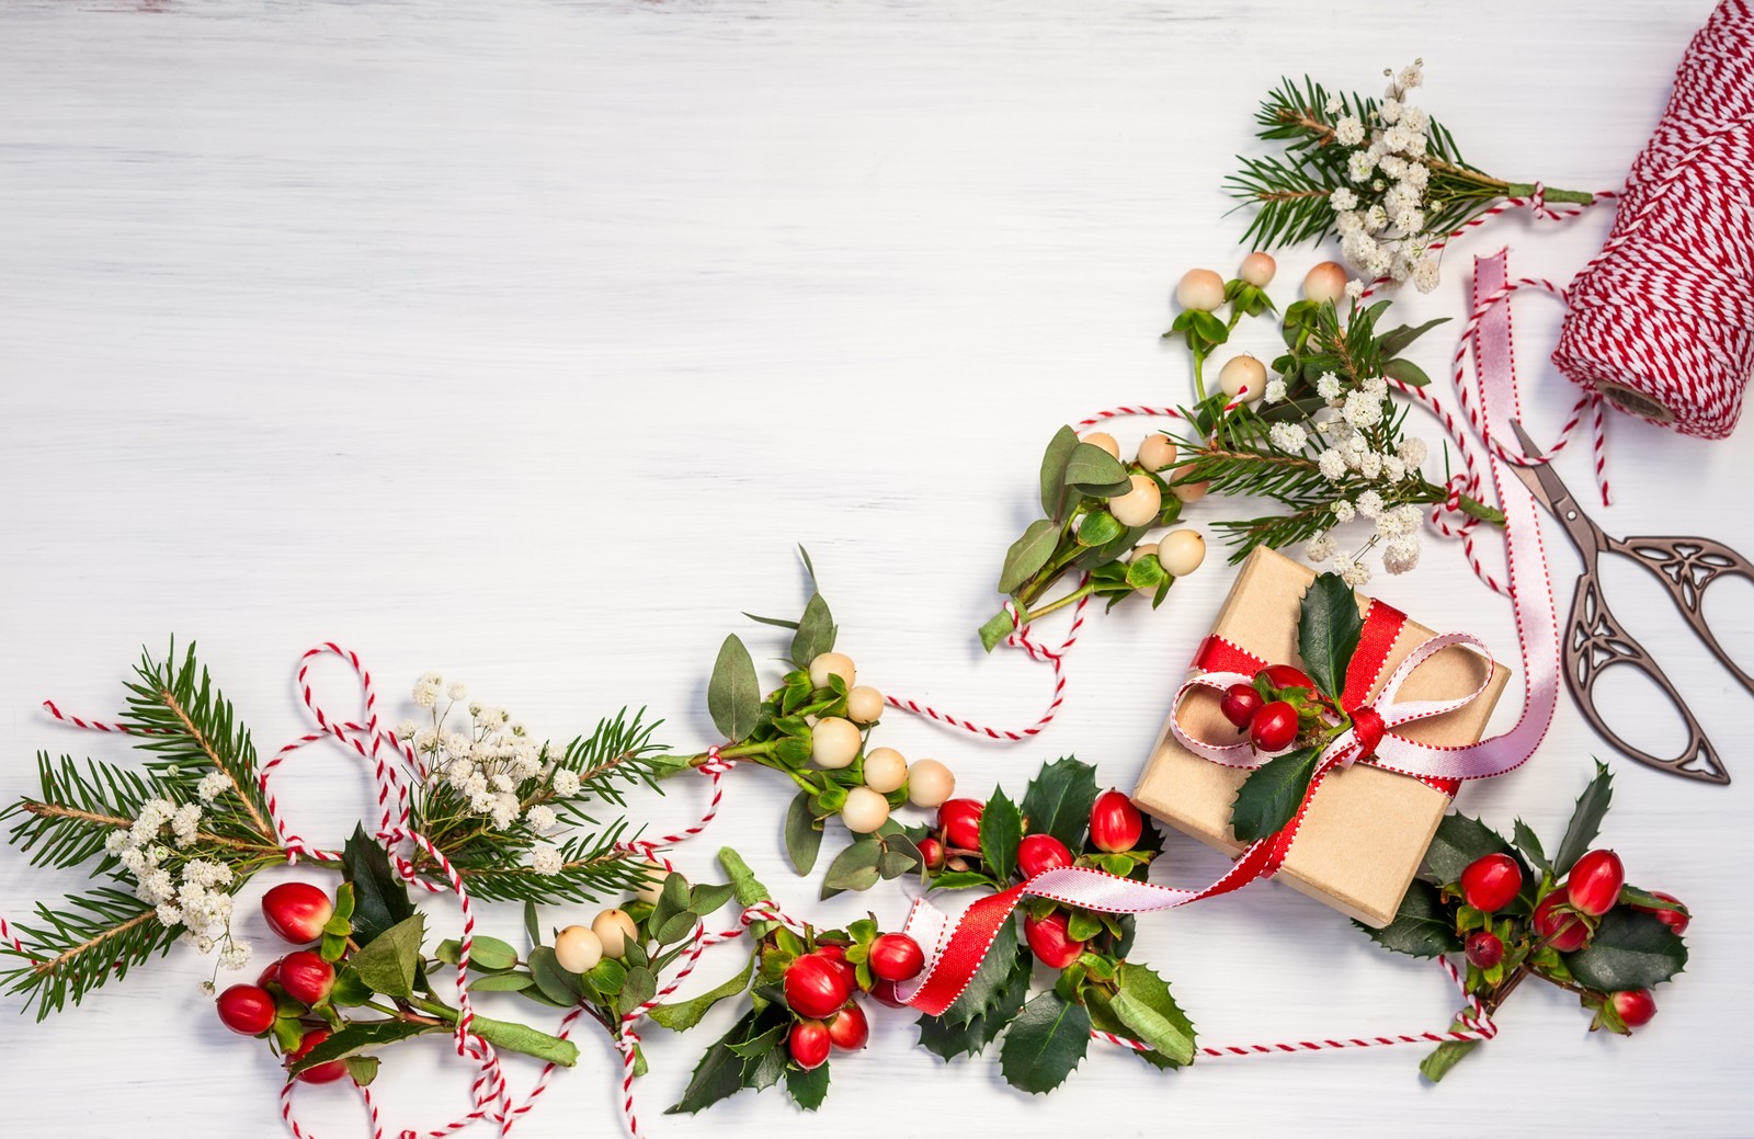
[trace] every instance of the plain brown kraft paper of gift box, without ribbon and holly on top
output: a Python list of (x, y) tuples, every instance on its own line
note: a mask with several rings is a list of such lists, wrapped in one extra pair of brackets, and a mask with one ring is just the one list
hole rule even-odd
[[(1296, 653), (1298, 614), (1314, 577), (1303, 565), (1258, 548), (1237, 574), (1212, 635), (1266, 663), (1301, 665)], [(1370, 598), (1359, 597), (1358, 605), (1363, 612)], [(1408, 618), (1389, 649), (1372, 700), (1394, 667), (1428, 637), (1431, 630)], [(1491, 677), (1477, 700), (1401, 725), (1396, 732), (1430, 744), (1477, 742), (1510, 679), (1503, 665), (1465, 646), (1449, 646), (1419, 665), (1400, 691), (1401, 700), (1463, 697), (1480, 686), (1487, 669)], [(1182, 730), (1193, 739), (1214, 744), (1237, 741), (1237, 728), (1219, 713), (1219, 693), (1209, 688), (1189, 691), (1170, 716), (1179, 716)], [(1244, 769), (1187, 751), (1175, 742), (1165, 721), (1133, 802), (1177, 830), (1237, 855), (1244, 844), (1231, 834), (1230, 811), (1247, 776)], [(1444, 792), (1380, 767), (1354, 763), (1335, 770), (1316, 790), (1277, 878), (1365, 925), (1384, 927), (1394, 920), (1449, 804)]]

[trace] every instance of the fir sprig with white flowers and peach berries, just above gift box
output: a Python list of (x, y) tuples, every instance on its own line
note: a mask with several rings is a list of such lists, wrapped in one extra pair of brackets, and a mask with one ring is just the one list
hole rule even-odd
[[(1263, 254), (1251, 254), (1263, 256)], [(1270, 261), (1270, 258), (1268, 258)], [(1210, 270), (1193, 270), (1205, 274)], [(1216, 274), (1212, 274), (1216, 277)], [(1272, 281), (1272, 272), (1256, 279)], [(1224, 363), (1221, 390), (1205, 395), (1184, 418), (1191, 430), (1173, 437), (1180, 456), (1173, 484), (1217, 495), (1265, 497), (1287, 512), (1214, 523), (1240, 562), (1256, 546), (1280, 549), (1308, 542), (1312, 562), (1333, 558), (1352, 586), (1370, 581), (1365, 556), (1382, 548), (1382, 567), (1403, 574), (1419, 563), (1424, 511), (1449, 500), (1449, 488), (1424, 477), (1428, 448), (1407, 433), (1407, 405), (1389, 381), (1428, 383), (1401, 353), (1442, 321), (1382, 328), (1389, 302), (1340, 302), (1361, 293), (1358, 281), (1328, 261), (1303, 283), (1305, 298), (1282, 319), (1286, 353), (1268, 369), (1252, 356)], [(1184, 304), (1205, 304), (1198, 291)], [(1473, 498), (1459, 509), (1501, 523)], [(1331, 534), (1358, 518), (1373, 523), (1361, 546), (1342, 549)]]

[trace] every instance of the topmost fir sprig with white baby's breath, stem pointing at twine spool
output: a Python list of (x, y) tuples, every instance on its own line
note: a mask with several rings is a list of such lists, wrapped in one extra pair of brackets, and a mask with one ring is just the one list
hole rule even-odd
[[(1228, 188), (1256, 207), (1244, 240), (1273, 249), (1338, 233), (1345, 260), (1366, 277), (1438, 283), (1433, 244), (1503, 198), (1528, 198), (1535, 183), (1508, 183), (1470, 165), (1451, 133), (1412, 93), (1421, 61), (1386, 70), (1382, 98), (1330, 93), (1314, 79), (1280, 81), (1256, 112), (1259, 137), (1282, 156), (1240, 158)], [(1544, 190), (1547, 202), (1589, 205), (1575, 190)]]

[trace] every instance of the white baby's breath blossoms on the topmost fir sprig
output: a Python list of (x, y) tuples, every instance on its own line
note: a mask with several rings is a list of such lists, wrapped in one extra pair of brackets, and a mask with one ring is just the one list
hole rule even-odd
[(1366, 277), (1412, 281), (1421, 293), (1430, 293), (1438, 279), (1438, 261), (1424, 233), (1431, 118), (1407, 102), (1422, 81), (1421, 61), (1401, 68), (1370, 121), (1347, 114), (1338, 95), (1328, 100), (1326, 111), (1338, 116), (1335, 142), (1352, 147), (1347, 177), (1356, 188), (1342, 186), (1330, 195), (1340, 253)]

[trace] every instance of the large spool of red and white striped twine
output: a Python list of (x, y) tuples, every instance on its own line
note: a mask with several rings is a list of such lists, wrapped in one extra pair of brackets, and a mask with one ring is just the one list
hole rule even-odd
[(1754, 7), (1693, 37), (1608, 240), (1566, 290), (1554, 363), (1610, 404), (1722, 439), (1754, 370)]

